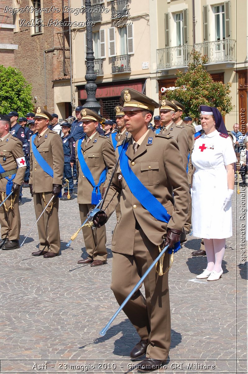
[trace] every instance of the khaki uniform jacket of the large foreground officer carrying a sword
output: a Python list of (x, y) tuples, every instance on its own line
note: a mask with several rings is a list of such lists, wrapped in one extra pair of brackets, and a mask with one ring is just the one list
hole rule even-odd
[[(154, 135), (152, 130), (148, 132), (135, 155), (130, 138), (126, 155), (136, 177), (166, 208), (172, 218), (168, 225), (157, 221), (134, 197), (122, 177), (120, 167), (117, 168), (103, 206), (106, 214), (110, 216), (118, 202), (117, 194), (121, 194), (121, 215), (112, 240), (112, 251), (114, 252), (133, 254), (135, 219), (148, 239), (155, 245), (162, 243), (167, 226), (182, 230), (185, 224), (189, 205), (189, 187), (178, 144), (170, 136)], [(153, 138), (152, 144), (148, 144), (150, 137)], [(117, 147), (120, 146), (117, 145)], [(128, 233), (128, 245), (126, 233)]]

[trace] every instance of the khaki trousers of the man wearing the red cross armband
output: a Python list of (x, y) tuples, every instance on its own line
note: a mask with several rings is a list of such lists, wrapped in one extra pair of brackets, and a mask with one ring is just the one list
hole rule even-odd
[[(1, 192), (0, 192), (1, 194)], [(14, 196), (12, 194), (12, 196)], [(4, 203), (7, 208), (10, 206), (10, 199)], [(6, 192), (4, 192), (4, 198), (7, 197)], [(1, 197), (1, 202), (2, 197)], [(9, 240), (19, 240), (20, 239), (20, 230), (21, 230), (21, 217), (20, 217), (20, 211), (19, 211), (19, 196), (16, 196), (15, 202), (13, 205), (14, 209), (9, 209), (6, 212), (6, 209), (4, 208), (4, 204), (0, 207), (0, 225), (1, 225), (1, 238), (9, 239)]]

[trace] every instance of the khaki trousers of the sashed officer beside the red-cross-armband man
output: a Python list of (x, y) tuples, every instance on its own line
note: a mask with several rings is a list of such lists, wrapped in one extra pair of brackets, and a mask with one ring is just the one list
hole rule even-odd
[[(36, 219), (40, 216), (45, 208), (42, 193), (34, 193), (34, 210)], [(45, 192), (46, 204), (53, 196), (52, 192)], [(40, 246), (39, 250), (59, 253), (60, 250), (60, 233), (59, 233), (59, 198), (53, 198), (53, 207), (47, 209), (38, 220), (37, 227), (39, 233)]]

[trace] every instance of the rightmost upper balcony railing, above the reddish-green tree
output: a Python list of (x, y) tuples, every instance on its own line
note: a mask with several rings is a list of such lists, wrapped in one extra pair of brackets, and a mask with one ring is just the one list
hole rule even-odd
[(235, 61), (235, 40), (226, 39), (197, 43), (195, 49), (208, 57), (208, 64)]

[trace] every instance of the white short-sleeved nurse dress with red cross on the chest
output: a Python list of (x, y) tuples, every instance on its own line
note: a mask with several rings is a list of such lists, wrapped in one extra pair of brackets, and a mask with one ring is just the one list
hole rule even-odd
[(236, 162), (231, 139), (217, 130), (195, 140), (191, 156), (195, 172), (192, 182), (193, 235), (204, 239), (232, 236), (232, 206), (228, 203), (225, 165)]

